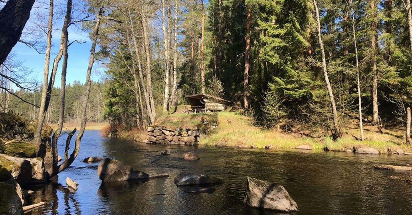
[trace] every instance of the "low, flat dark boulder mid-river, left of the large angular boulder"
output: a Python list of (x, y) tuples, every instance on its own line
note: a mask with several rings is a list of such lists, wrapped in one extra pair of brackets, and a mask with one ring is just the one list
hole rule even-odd
[(222, 183), (223, 181), (216, 177), (187, 172), (180, 172), (180, 174), (175, 177), (176, 186), (215, 185)]

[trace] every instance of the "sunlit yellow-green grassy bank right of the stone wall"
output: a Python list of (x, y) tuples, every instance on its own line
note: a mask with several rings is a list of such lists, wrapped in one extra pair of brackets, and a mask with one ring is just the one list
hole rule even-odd
[(219, 127), (214, 129), (200, 144), (264, 148), (267, 144), (274, 148), (295, 148), (307, 144), (313, 149), (331, 151), (346, 151), (361, 147), (372, 147), (385, 154), (395, 149), (412, 151), (411, 146), (403, 144), (402, 130), (384, 130), (379, 133), (376, 126), (365, 126), (365, 141), (357, 141), (352, 135), (359, 136), (356, 124), (344, 129), (344, 135), (336, 142), (329, 137), (311, 138), (296, 133), (277, 132), (255, 127), (250, 119), (238, 113), (220, 112), (218, 114)]

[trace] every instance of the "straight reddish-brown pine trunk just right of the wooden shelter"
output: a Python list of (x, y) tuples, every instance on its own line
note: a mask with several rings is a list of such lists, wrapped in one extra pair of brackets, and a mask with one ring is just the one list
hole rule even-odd
[(246, 48), (245, 48), (245, 73), (243, 80), (243, 104), (245, 109), (249, 108), (249, 68), (250, 68), (250, 6), (248, 6), (248, 14), (246, 21)]

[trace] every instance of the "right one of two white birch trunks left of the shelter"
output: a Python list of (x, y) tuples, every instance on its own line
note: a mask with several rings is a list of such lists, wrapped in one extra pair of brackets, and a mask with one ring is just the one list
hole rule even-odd
[(173, 35), (173, 88), (172, 88), (172, 101), (170, 108), (173, 107), (173, 113), (176, 112), (177, 109), (177, 89), (178, 89), (178, 1), (174, 0), (174, 35)]

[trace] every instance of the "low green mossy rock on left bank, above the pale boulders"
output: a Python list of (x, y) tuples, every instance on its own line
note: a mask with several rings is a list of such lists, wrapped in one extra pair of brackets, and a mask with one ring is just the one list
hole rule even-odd
[(11, 141), (2, 145), (1, 153), (20, 158), (34, 158), (36, 156), (35, 145), (32, 142)]

